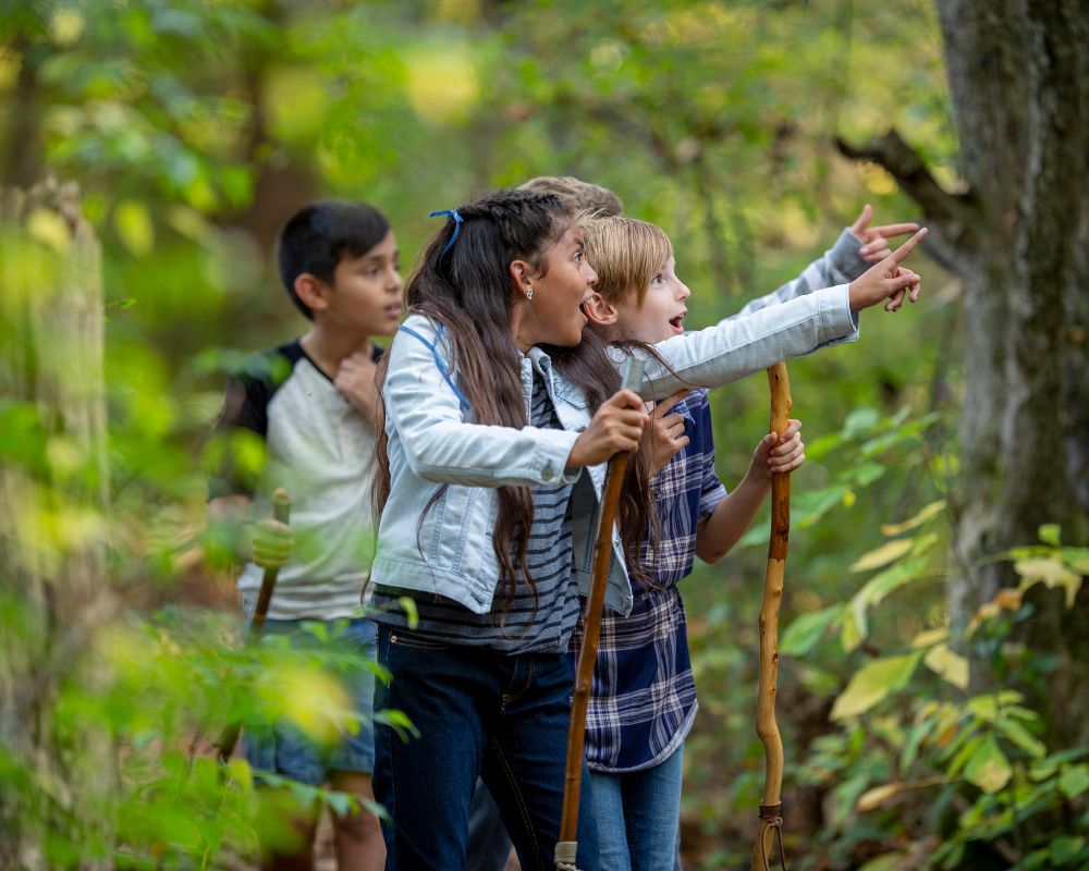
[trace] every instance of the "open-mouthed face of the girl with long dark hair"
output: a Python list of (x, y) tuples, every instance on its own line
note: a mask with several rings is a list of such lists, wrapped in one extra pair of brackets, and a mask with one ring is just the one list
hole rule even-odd
[(572, 223), (544, 255), (541, 274), (521, 281), (523, 293), (533, 289), (533, 299), (515, 307), (514, 338), (523, 353), (534, 345), (574, 347), (583, 338), (589, 300), (598, 273), (583, 255), (583, 236)]

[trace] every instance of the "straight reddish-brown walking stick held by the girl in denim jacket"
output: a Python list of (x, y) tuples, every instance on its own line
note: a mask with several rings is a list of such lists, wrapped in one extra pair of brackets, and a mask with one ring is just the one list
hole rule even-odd
[[(624, 370), (622, 390), (635, 390), (643, 380), (643, 360), (629, 357)], [(586, 739), (586, 709), (590, 701), (594, 663), (598, 658), (601, 636), (601, 612), (609, 586), (609, 564), (612, 561), (612, 533), (620, 506), (620, 491), (631, 455), (622, 451), (609, 461), (605, 484), (601, 493), (601, 511), (594, 537), (594, 565), (590, 594), (583, 616), (583, 646), (578, 650), (575, 670), (575, 692), (571, 702), (571, 726), (567, 728), (567, 762), (563, 776), (563, 811), (560, 817), (560, 841), (555, 845), (556, 871), (578, 871), (578, 793), (583, 785), (583, 747)]]

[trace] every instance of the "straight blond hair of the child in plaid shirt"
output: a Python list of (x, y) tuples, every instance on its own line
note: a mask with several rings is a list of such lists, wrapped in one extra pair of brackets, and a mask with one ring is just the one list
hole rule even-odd
[(661, 228), (636, 218), (587, 218), (578, 222), (586, 259), (598, 273), (594, 290), (607, 303), (625, 303), (635, 295), (643, 305), (650, 280), (673, 256)]

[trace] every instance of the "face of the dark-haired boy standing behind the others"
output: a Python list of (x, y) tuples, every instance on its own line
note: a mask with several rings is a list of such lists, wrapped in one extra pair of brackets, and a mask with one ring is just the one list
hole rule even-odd
[(360, 341), (370, 335), (392, 335), (401, 321), (400, 253), (391, 230), (360, 257), (345, 255), (337, 263), (326, 300), (316, 312), (326, 323)]

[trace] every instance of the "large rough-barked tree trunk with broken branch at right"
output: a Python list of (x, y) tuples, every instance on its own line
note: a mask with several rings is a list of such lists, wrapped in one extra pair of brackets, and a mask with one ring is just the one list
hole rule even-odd
[[(1089, 529), (1089, 11), (1085, 0), (939, 0), (964, 192), (942, 191), (895, 133), (853, 156), (922, 206), (964, 285), (965, 400), (954, 508), (954, 623), (1014, 580), (979, 559)], [(1049, 720), (1089, 740), (1089, 585), (1073, 611), (1036, 588), (1026, 639), (1057, 654)], [(1081, 627), (1079, 629), (1079, 626)]]

